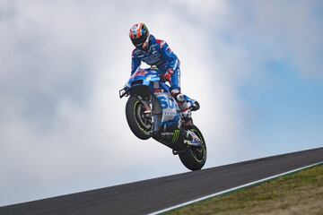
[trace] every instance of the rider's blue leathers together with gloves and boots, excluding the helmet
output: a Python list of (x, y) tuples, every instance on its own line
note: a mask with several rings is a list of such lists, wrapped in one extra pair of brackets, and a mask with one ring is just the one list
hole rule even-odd
[(168, 44), (162, 39), (155, 39), (151, 34), (148, 50), (138, 47), (134, 49), (131, 74), (135, 73), (141, 62), (156, 66), (158, 71), (164, 74), (164, 77), (168, 79), (166, 81), (170, 82), (171, 95), (178, 102), (185, 121), (192, 123), (188, 102), (186, 102), (184, 95), (180, 93), (179, 58), (171, 51)]

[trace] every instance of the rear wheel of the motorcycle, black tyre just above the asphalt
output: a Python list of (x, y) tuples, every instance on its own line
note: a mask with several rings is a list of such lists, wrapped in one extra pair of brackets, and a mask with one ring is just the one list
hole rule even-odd
[(193, 125), (191, 128), (189, 128), (189, 130), (196, 133), (198, 138), (201, 140), (202, 147), (188, 147), (185, 152), (179, 154), (179, 159), (186, 168), (194, 171), (203, 168), (203, 166), (205, 165), (207, 154), (206, 144), (202, 133), (196, 127), (196, 125)]

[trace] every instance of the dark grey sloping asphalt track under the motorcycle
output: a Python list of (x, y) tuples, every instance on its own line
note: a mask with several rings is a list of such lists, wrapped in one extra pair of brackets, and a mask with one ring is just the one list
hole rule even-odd
[(323, 147), (13, 204), (0, 214), (148, 214), (321, 161)]

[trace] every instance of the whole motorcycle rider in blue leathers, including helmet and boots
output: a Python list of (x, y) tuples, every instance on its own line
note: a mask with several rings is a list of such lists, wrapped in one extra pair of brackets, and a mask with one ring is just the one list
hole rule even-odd
[[(144, 23), (132, 26), (129, 37), (135, 45), (132, 52), (131, 74), (135, 73), (141, 62), (157, 67), (163, 79), (170, 82), (170, 93), (179, 104), (185, 120), (184, 126), (193, 125), (188, 102), (180, 92), (179, 58), (164, 40), (155, 39)], [(146, 111), (150, 112), (150, 107), (146, 107)]]

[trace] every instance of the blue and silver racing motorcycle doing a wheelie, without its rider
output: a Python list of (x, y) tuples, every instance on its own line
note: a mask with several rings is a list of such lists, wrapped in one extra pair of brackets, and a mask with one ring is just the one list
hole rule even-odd
[[(126, 105), (127, 124), (141, 140), (153, 138), (170, 149), (190, 170), (203, 168), (206, 161), (205, 139), (196, 125), (184, 125), (179, 105), (170, 94), (170, 86), (157, 68), (138, 68), (120, 99), (129, 97)], [(191, 111), (199, 108), (196, 100), (184, 96)]]

